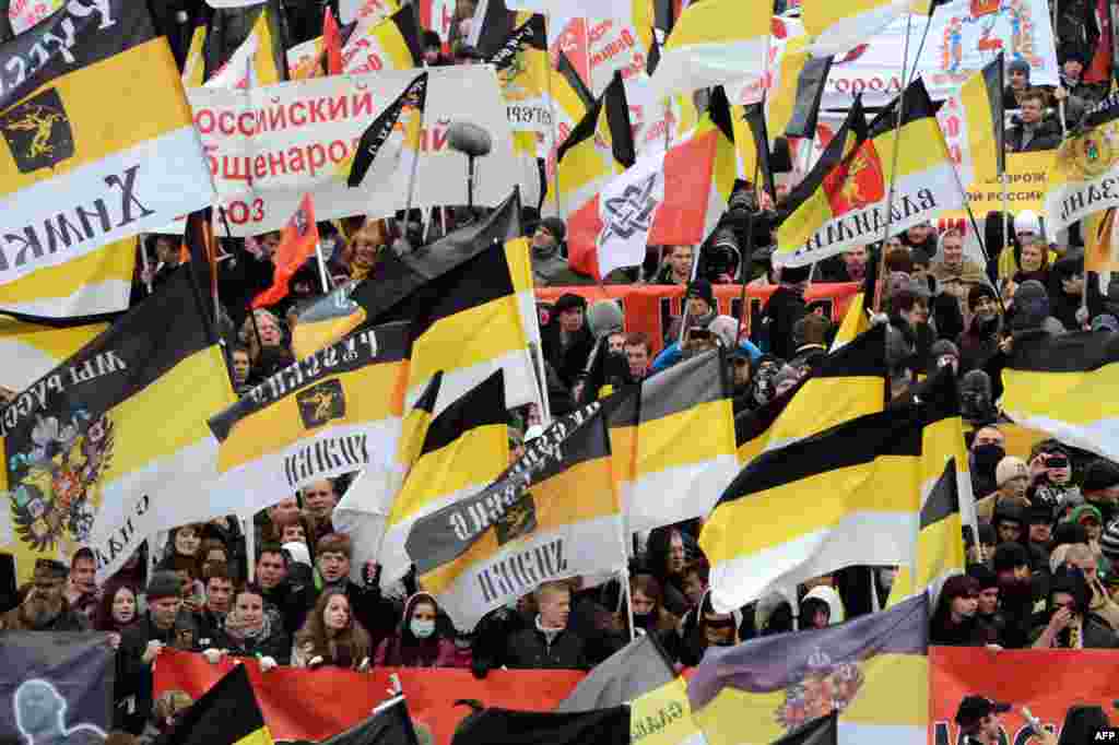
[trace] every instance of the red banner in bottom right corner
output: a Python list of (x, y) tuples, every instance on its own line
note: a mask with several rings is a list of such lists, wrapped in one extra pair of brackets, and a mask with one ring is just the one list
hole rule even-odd
[[(1042, 724), (1060, 736), (1069, 707), (1102, 706), (1115, 722), (1111, 702), (1119, 697), (1116, 670), (1119, 651), (1109, 650), (1004, 650), (975, 647), (934, 647), (929, 650), (929, 743), (959, 742), (956, 710), (965, 696), (977, 695), (1012, 706), (999, 715), (1004, 743), (1026, 745), (1029, 728), (1022, 716), (1027, 707)], [(1033, 738), (1034, 745), (1037, 739)]]

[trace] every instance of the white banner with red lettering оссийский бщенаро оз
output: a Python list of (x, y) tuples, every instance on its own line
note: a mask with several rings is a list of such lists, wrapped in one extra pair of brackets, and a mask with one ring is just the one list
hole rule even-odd
[[(496, 207), (526, 181), (493, 69), (435, 67), (430, 76), (412, 206), (467, 204), (467, 161), (448, 143), (451, 122), (466, 120), (492, 136), (492, 151), (478, 164), (474, 202)], [(363, 132), (414, 78), (415, 70), (396, 70), (247, 91), (191, 88), (195, 125), (233, 235), (280, 229), (304, 194), (320, 205), (320, 220), (403, 209), (407, 169), (352, 189), (346, 178)]]

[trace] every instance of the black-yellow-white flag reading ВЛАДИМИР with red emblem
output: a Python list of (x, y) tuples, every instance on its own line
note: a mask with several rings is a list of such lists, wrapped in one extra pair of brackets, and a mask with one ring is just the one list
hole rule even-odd
[[(900, 130), (899, 109), (903, 116)], [(895, 98), (878, 114), (867, 136), (839, 158), (838, 164), (829, 155), (826, 151), (821, 162), (830, 168), (818, 163), (798, 186), (797, 200), (790, 197), (792, 213), (778, 228), (775, 265), (808, 266), (881, 239), (887, 209), (891, 230), (901, 233), (944, 210), (966, 206), (921, 78), (905, 89), (904, 104), (902, 97)], [(887, 207), (891, 192), (893, 202)]]

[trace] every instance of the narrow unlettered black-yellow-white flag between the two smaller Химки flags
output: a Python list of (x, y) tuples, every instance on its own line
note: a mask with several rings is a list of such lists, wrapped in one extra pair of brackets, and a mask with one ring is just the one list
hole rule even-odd
[[(382, 584), (399, 579), (417, 557), (408, 536), (417, 521), (478, 493), (509, 465), (508, 414), (501, 370), (432, 417), (438, 389), (410, 414), (410, 447), (421, 443), (399, 491), (389, 494), (378, 564)], [(419, 433), (423, 432), (422, 438)], [(369, 496), (338, 509), (369, 511)]]

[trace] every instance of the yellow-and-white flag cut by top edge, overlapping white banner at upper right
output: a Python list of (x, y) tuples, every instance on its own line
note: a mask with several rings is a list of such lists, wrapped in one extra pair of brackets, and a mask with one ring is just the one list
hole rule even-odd
[(930, 0), (801, 0), (801, 20), (817, 56), (840, 55), (884, 30), (905, 13), (928, 17)]

